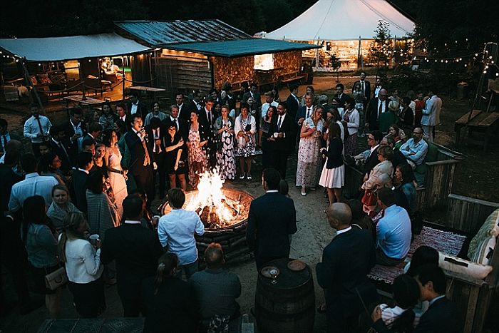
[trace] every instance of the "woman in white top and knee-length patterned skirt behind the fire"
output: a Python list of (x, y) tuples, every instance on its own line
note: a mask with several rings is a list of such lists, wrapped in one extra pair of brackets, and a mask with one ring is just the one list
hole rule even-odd
[[(254, 133), (257, 133), (257, 123), (248, 112), (246, 104), (241, 105), (241, 114), (237, 116), (234, 131), (237, 133), (236, 156), (239, 156), (241, 174), (239, 179), (252, 180), (251, 163), (254, 155)], [(245, 165), (247, 171), (245, 173)]]

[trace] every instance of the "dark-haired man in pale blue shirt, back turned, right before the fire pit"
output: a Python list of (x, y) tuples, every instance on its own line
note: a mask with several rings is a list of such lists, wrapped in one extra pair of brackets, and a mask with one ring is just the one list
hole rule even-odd
[(168, 191), (168, 203), (173, 210), (160, 218), (158, 237), (160, 243), (168, 252), (178, 257), (178, 277), (182, 270), (187, 279), (197, 272), (197, 248), (194, 235), (203, 235), (205, 226), (196, 212), (182, 209), (185, 203), (185, 193), (180, 188)]

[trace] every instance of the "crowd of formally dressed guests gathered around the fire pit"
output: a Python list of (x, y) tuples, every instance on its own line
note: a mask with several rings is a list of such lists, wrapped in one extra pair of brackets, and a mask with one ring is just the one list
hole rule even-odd
[[(61, 287), (48, 287), (46, 280), (65, 267), (81, 317), (101, 314), (106, 309), (104, 286), (117, 285), (124, 317), (143, 314), (146, 332), (158, 332), (166, 323), (182, 325), (182, 332), (232, 327), (240, 315), (235, 301), (241, 292), (239, 279), (222, 270), (218, 244), (207, 248), (207, 270), (198, 272), (195, 235), (204, 233), (204, 225), (182, 205), (185, 191), (195, 188), (206, 170), (217, 170), (225, 180), (237, 175), (252, 180), (254, 156), (261, 150), (267, 193), (252, 201), (247, 227), (257, 268), (289, 257), (290, 235), (297, 232), (296, 211), (283, 180), (289, 155), (296, 153), (296, 186), (301, 194), (321, 185), (329, 200), (324, 212), (338, 230), (334, 247), (358, 245), (364, 253), (354, 260), (349, 257), (354, 252), (336, 252), (331, 242), (317, 266), (319, 285), (326, 294), (320, 311), (326, 311), (329, 327), (342, 327), (354, 310), (339, 303), (349, 302), (353, 294), (341, 297), (359, 288), (362, 297), (365, 291), (366, 299), (373, 300), (366, 274), (374, 263), (400, 265), (408, 254), (417, 217), (413, 169), (423, 163), (426, 140), (433, 140), (441, 108), (433, 90), (428, 98), (422, 94), (416, 98), (411, 92), (400, 98), (397, 90), (388, 96), (381, 79), (371, 96), (365, 78), (361, 73), (352, 96), (337, 84), (331, 103), (327, 96), (316, 96), (312, 86), (302, 97), (298, 86), (290, 86), (287, 101), (268, 91), (262, 103), (256, 84), (242, 97), (226, 84), (220, 93), (213, 89), (192, 101), (178, 93), (176, 103), (164, 112), (155, 101), (149, 112), (130, 93), (128, 102), (117, 103), (114, 111), (104, 103), (101, 112), (84, 118), (77, 106), (69, 109), (68, 121), (56, 125), (31, 104), (24, 137), (31, 142), (32, 153), (24, 153), (21, 139), (0, 119), (0, 204), (6, 231), (2, 247), (15, 252), (2, 255), (2, 261), (14, 276), (21, 313), (40, 305), (28, 292), (29, 268), (36, 291), (45, 294), (51, 317), (58, 316)], [(358, 141), (364, 137), (369, 148), (359, 153)], [(345, 163), (363, 165), (364, 170), (359, 198), (349, 205), (341, 191)], [(155, 198), (168, 198), (173, 212), (153, 217)], [(352, 223), (368, 231), (349, 232), (356, 230)], [(348, 245), (336, 242), (340, 238)], [(343, 252), (351, 253), (338, 255)], [(358, 265), (339, 266), (345, 270), (337, 275), (335, 265), (351, 262)], [(178, 278), (182, 273), (188, 282)], [(441, 285), (435, 287), (441, 283), (436, 281), (440, 272), (418, 274), (411, 279), (416, 277), (419, 287), (426, 285), (424, 279), (433, 279), (429, 280), (433, 292), (442, 294)], [(414, 286), (414, 280), (406, 277), (400, 281)], [(368, 286), (364, 291), (363, 285)], [(398, 306), (406, 310), (419, 294), (401, 297), (406, 298)], [(400, 317), (393, 313), (400, 311), (390, 309), (376, 307), (373, 320), (378, 322), (375, 314), (380, 312), (390, 332), (408, 332), (393, 330), (392, 322)], [(386, 312), (391, 313), (391, 322), (385, 320)]]

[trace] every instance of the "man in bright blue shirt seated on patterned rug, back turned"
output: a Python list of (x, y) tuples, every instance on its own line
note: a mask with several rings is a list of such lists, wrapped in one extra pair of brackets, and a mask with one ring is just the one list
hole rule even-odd
[(378, 191), (378, 205), (384, 210), (384, 217), (376, 225), (376, 263), (396, 266), (411, 247), (411, 219), (406, 210), (395, 205), (395, 194), (390, 188)]

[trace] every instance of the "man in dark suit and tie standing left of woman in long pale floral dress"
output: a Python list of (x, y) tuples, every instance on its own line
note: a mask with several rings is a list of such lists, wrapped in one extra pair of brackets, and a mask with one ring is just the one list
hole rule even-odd
[(293, 148), (295, 137), (294, 119), (286, 113), (286, 103), (279, 102), (277, 115), (272, 117), (270, 123), (269, 140), (273, 165), (279, 170), (282, 179), (286, 178), (287, 157)]

